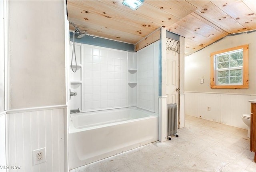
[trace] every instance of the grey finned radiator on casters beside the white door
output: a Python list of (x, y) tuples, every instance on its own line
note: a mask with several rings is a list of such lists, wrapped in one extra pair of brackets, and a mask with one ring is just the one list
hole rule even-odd
[(167, 104), (167, 134), (169, 140), (172, 139), (171, 135), (178, 137), (178, 115), (177, 115), (177, 104)]

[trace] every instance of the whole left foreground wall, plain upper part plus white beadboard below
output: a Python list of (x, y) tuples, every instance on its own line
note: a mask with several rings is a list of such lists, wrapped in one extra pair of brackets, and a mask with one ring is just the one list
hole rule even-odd
[[(21, 171), (65, 171), (64, 1), (8, 2), (9, 109), (6, 164)], [(32, 164), (32, 151), (46, 160)], [(10, 169), (14, 171), (14, 169)]]

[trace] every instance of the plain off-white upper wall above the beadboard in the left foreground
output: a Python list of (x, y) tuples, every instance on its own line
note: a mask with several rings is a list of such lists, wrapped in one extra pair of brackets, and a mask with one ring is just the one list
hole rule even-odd
[(9, 108), (66, 104), (64, 2), (8, 3)]

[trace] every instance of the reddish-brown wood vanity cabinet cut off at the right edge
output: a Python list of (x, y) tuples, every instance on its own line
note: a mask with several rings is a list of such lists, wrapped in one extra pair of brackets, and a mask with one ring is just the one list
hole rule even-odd
[(256, 162), (256, 103), (251, 103), (251, 112), (250, 151), (254, 152), (254, 162)]

